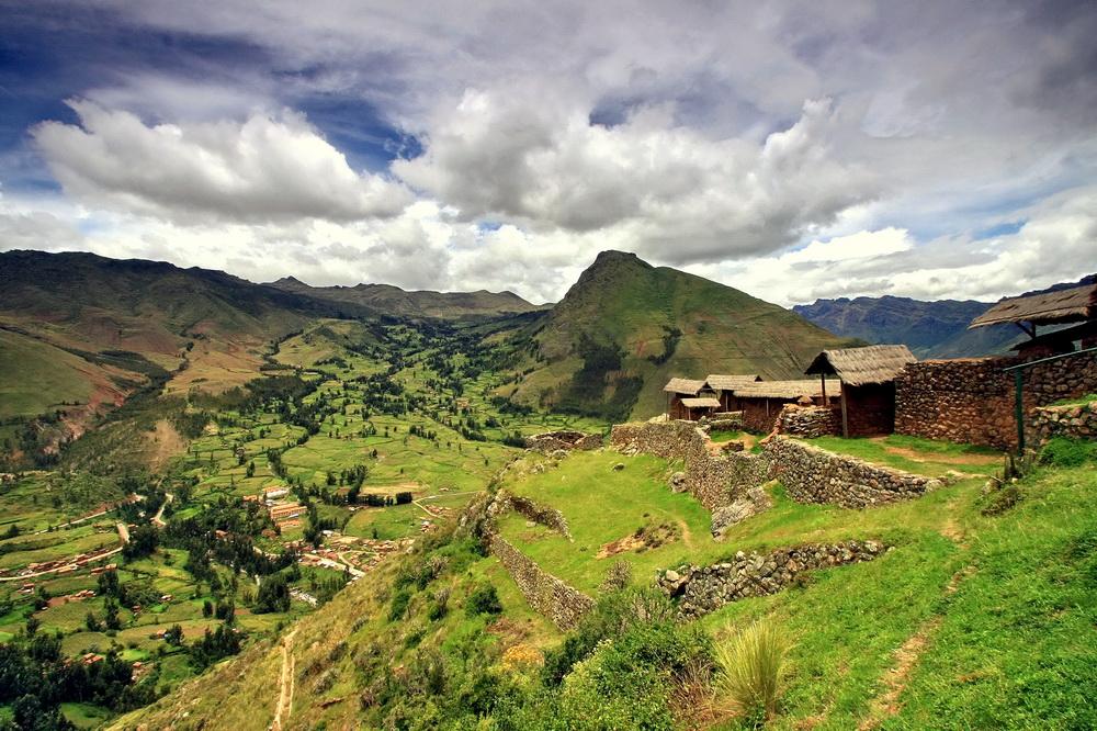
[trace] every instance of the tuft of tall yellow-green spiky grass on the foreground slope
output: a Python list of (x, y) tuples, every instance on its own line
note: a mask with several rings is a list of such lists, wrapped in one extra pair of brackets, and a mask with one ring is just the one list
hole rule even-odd
[(754, 622), (716, 645), (720, 688), (728, 710), (755, 723), (772, 718), (791, 646), (789, 634), (772, 620)]

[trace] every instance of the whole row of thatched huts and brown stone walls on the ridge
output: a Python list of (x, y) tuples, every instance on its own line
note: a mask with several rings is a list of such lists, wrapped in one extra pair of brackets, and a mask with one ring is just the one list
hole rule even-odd
[(1097, 390), (1088, 355), (1097, 350), (1097, 285), (1005, 300), (970, 327), (998, 324), (1028, 336), (1016, 356), (918, 361), (905, 345), (826, 350), (804, 370), (817, 379), (674, 378), (664, 387), (666, 417), (736, 414), (764, 435), (901, 434), (1024, 452), (1032, 408)]

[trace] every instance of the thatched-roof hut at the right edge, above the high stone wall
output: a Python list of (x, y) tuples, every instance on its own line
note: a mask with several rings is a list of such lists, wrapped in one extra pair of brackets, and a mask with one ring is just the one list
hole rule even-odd
[[(1090, 279), (1094, 277), (1097, 275)], [(1097, 284), (1003, 300), (973, 319), (968, 329), (1002, 323), (1013, 323), (1029, 336), (1014, 348), (1021, 356), (1074, 352), (1074, 344), (1078, 340), (1084, 349), (1097, 347)], [(1042, 325), (1071, 323), (1081, 325), (1045, 335), (1037, 333)]]

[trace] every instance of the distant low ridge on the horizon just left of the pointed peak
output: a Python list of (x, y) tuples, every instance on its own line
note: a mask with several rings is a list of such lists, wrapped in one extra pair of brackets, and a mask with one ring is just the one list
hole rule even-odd
[(462, 317), (467, 315), (505, 315), (547, 310), (550, 305), (530, 304), (513, 292), (407, 292), (392, 284), (355, 284), (354, 286), (309, 286), (293, 278), (271, 282), (286, 292), (306, 294), (320, 300), (364, 305), (396, 317)]

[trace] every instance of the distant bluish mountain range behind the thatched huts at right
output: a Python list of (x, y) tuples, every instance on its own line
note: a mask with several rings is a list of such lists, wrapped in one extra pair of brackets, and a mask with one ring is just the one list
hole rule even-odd
[[(1054, 284), (1016, 296), (1044, 294), (1093, 281), (1094, 277), (1090, 275), (1077, 282)], [(994, 304), (975, 300), (923, 302), (887, 295), (816, 300), (814, 304), (795, 305), (792, 310), (841, 337), (861, 338), (882, 345), (904, 344), (909, 346), (915, 356), (925, 360), (1008, 353), (1025, 337), (1016, 326), (1006, 324), (968, 329), (971, 320)]]

